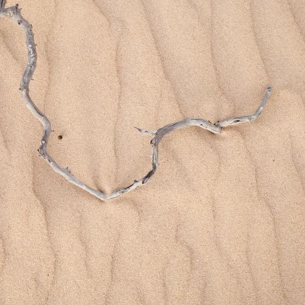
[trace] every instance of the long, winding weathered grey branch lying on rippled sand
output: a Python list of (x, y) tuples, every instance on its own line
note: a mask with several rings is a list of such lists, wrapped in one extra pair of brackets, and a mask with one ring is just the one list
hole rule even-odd
[(98, 190), (90, 188), (82, 181), (78, 180), (74, 175), (71, 174), (71, 171), (68, 168), (60, 167), (48, 154), (47, 152), (47, 144), (48, 139), (51, 133), (51, 123), (47, 119), (47, 117), (38, 109), (38, 107), (34, 104), (31, 97), (29, 96), (29, 82), (32, 79), (34, 71), (37, 65), (37, 53), (34, 42), (34, 33), (32, 32), (32, 24), (30, 24), (26, 19), (24, 19), (20, 13), (20, 9), (18, 5), (14, 7), (5, 8), (6, 0), (1, 0), (0, 7), (0, 16), (4, 18), (12, 17), (12, 20), (18, 24), (26, 34), (26, 45), (27, 45), (27, 65), (25, 71), (21, 77), (20, 83), (20, 93), (21, 98), (26, 104), (27, 108), (39, 119), (44, 127), (43, 135), (40, 142), (40, 147), (38, 149), (40, 156), (53, 168), (53, 170), (61, 175), (63, 175), (69, 182), (74, 185), (80, 187), (81, 189), (87, 191), (88, 193), (96, 196), (101, 200), (108, 200), (115, 198), (121, 194), (125, 194), (131, 192), (138, 187), (144, 185), (156, 172), (158, 167), (158, 145), (162, 138), (181, 128), (189, 127), (189, 126), (199, 126), (203, 129), (210, 131), (211, 133), (219, 134), (221, 129), (226, 126), (236, 125), (239, 123), (250, 122), (256, 119), (262, 112), (269, 95), (271, 93), (271, 86), (266, 89), (263, 100), (261, 101), (258, 109), (252, 115), (241, 116), (241, 117), (233, 117), (230, 119), (226, 119), (223, 121), (219, 121), (216, 124), (211, 124), (209, 121), (206, 121), (202, 118), (184, 118), (175, 123), (168, 124), (156, 131), (147, 131), (137, 128), (140, 133), (147, 134), (150, 136), (155, 136), (151, 141), (151, 169), (150, 171), (140, 180), (134, 180), (134, 183), (126, 188), (120, 189), (110, 195), (106, 195)]

